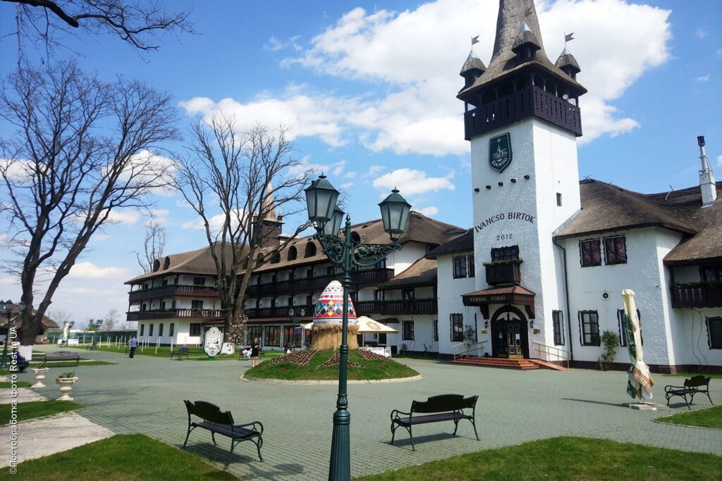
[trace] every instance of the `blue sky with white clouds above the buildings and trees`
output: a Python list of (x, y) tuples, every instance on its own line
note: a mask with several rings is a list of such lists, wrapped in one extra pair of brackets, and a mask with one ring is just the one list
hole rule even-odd
[[(469, 144), (455, 96), (469, 37), (480, 35), (474, 49), (489, 63), (496, 0), (166, 4), (192, 8), (199, 35), (161, 37), (160, 50), (144, 55), (110, 36), (67, 37), (66, 45), (86, 70), (173, 94), (183, 130), (193, 116), (219, 110), (247, 125), (286, 123), (297, 156), (347, 192), (352, 221), (378, 218), (376, 204), (396, 185), (417, 210), (470, 226)], [(704, 135), (722, 178), (722, 2), (537, 0), (536, 9), (552, 60), (563, 34), (575, 32), (568, 47), (589, 89), (580, 99), (582, 177), (643, 193), (696, 185), (696, 136)], [(3, 77), (17, 59), (16, 40), (5, 36), (13, 15), (12, 4), (1, 2)], [(51, 62), (67, 55), (76, 56), (56, 50)], [(0, 124), (0, 137), (9, 135)], [(166, 253), (205, 242), (178, 200), (157, 198)], [(118, 221), (92, 242), (51, 312), (82, 323), (126, 310), (122, 282), (139, 273), (132, 252), (142, 248), (147, 219), (124, 211)], [(17, 300), (19, 292), (0, 274), (0, 299)]]

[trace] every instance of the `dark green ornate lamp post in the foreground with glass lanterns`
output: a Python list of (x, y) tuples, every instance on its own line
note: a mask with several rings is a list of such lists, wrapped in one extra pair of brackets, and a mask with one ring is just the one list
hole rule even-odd
[(332, 264), (342, 269), (341, 283), (343, 294), (343, 323), (341, 347), (339, 348), (339, 394), (334, 412), (334, 433), (331, 440), (331, 462), (329, 480), (346, 481), (351, 479), (351, 445), (349, 425), (351, 415), (347, 409), (347, 369), (349, 346), (348, 330), (348, 291), (351, 285), (351, 272), (357, 267), (371, 267), (394, 250), (401, 249), (399, 240), (409, 219), (411, 205), (394, 189), (378, 206), (381, 209), (383, 230), (391, 237), (391, 244), (362, 244), (351, 238), (351, 219), (346, 216), (343, 239), (338, 234), (344, 212), (336, 207), (339, 192), (334, 189), (326, 176), (321, 175), (305, 189), (308, 219), (316, 228), (314, 238), (323, 247), (323, 252)]

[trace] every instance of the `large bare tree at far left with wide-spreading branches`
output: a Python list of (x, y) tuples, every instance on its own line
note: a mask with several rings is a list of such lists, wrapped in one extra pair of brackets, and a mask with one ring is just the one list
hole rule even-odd
[(148, 208), (149, 194), (166, 184), (170, 166), (148, 152), (178, 132), (168, 94), (138, 81), (103, 83), (74, 63), (10, 75), (0, 118), (17, 128), (0, 140), (0, 211), (15, 255), (0, 269), (20, 279), (27, 304), (20, 344), (31, 350), (40, 319), (93, 234), (118, 208)]

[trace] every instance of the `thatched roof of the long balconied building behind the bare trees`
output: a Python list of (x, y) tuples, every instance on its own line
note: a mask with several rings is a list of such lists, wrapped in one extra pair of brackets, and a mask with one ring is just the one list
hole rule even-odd
[[(351, 230), (352, 235), (358, 234), (360, 242), (373, 244), (389, 244), (391, 242), (388, 234), (383, 230), (381, 219), (355, 224), (351, 227)], [(404, 234), (401, 234), (399, 238), (399, 244), (418, 242), (419, 244), (438, 246), (463, 232), (464, 230), (457, 226), (436, 221), (422, 213), (412, 211), (409, 215), (409, 221), (406, 223)], [(309, 244), (311, 245), (309, 246)], [(271, 247), (266, 247), (260, 252), (267, 253), (271, 250)], [(307, 256), (308, 252), (310, 252), (310, 255)], [(326, 260), (327, 257), (321, 249), (321, 244), (316, 239), (313, 239), (313, 236), (306, 236), (288, 241), (284, 245), (282, 252), (280, 252), (279, 262), (266, 262), (254, 272), (263, 273), (283, 268), (301, 267), (326, 262)], [(159, 259), (155, 265), (157, 270), (132, 278), (126, 281), (126, 284), (140, 283), (147, 279), (169, 274), (215, 275), (216, 273), (209, 247), (168, 255)]]

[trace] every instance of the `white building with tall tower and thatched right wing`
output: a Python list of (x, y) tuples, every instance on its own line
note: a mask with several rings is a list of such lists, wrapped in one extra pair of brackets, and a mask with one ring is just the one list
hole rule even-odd
[(474, 226), (427, 256), (438, 260), (440, 353), (469, 326), (492, 357), (551, 351), (593, 367), (612, 331), (622, 368), (630, 288), (653, 370), (722, 371), (722, 183), (704, 139), (699, 187), (644, 195), (578, 182), (579, 71), (566, 48), (547, 58), (533, 0), (500, 1), (489, 68), (473, 51), (464, 63)]

